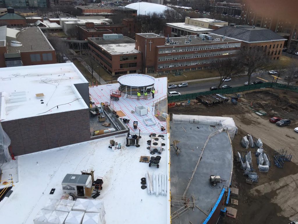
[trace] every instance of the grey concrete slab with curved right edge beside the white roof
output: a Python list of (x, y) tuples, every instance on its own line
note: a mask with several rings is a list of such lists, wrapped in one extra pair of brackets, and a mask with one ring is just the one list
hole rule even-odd
[[(176, 145), (181, 148), (179, 156), (171, 150), (171, 194), (183, 195), (209, 134), (217, 131), (219, 125), (215, 127), (194, 123), (170, 125), (171, 143), (176, 140), (178, 142)], [(210, 138), (186, 196), (191, 197), (194, 194), (195, 204), (209, 214), (224, 185), (229, 186), (232, 167), (232, 145), (227, 132), (222, 132)], [(221, 179), (227, 181), (212, 187), (209, 184), (210, 175), (219, 175)], [(171, 212), (177, 209), (172, 208)], [(172, 223), (189, 223), (189, 221), (201, 223), (206, 217), (206, 214), (198, 209), (195, 211), (191, 209)]]

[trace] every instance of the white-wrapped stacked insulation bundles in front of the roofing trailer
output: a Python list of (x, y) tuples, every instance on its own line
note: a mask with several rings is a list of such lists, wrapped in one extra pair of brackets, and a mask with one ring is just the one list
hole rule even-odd
[(34, 224), (105, 224), (102, 200), (49, 199), (33, 220)]

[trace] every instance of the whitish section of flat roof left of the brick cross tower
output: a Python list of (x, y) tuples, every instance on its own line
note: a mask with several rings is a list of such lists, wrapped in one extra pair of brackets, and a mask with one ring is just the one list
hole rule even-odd
[(111, 55), (140, 53), (135, 43), (99, 45)]

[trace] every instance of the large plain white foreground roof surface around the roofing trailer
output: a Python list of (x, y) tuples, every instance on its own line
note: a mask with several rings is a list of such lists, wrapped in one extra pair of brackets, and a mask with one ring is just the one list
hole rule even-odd
[[(131, 131), (131, 134), (138, 133)], [(104, 202), (106, 223), (134, 224), (142, 220), (143, 224), (152, 224), (154, 219), (156, 223), (170, 224), (168, 135), (164, 134), (162, 140), (166, 146), (159, 155), (158, 169), (149, 167), (148, 162), (139, 162), (141, 156), (158, 155), (151, 155), (147, 149), (149, 134), (141, 133), (141, 136), (139, 148), (126, 147), (126, 134), (122, 134), (16, 157), (18, 166), (12, 170), (19, 171), (19, 181), (13, 176), (15, 187), (1, 207), (1, 214), (5, 214), (1, 215), (2, 222), (32, 224), (49, 199), (60, 200), (63, 194), (61, 182), (66, 174), (80, 174), (80, 171), (93, 169), (94, 178), (103, 177), (103, 189), (100, 196), (90, 200)], [(121, 143), (121, 149), (108, 148), (111, 139)], [(10, 163), (4, 163), (1, 169)], [(36, 166), (38, 172), (32, 177)], [(166, 196), (156, 197), (149, 195), (147, 188), (141, 189), (141, 178), (147, 171), (151, 177), (153, 173), (157, 177), (166, 175)], [(52, 188), (56, 190), (49, 194)], [(18, 215), (15, 215), (16, 211)]]

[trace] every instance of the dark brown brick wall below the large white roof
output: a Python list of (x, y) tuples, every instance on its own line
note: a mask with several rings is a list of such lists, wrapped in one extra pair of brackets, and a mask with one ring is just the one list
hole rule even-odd
[(2, 122), (15, 156), (91, 140), (89, 109)]

